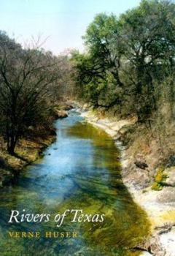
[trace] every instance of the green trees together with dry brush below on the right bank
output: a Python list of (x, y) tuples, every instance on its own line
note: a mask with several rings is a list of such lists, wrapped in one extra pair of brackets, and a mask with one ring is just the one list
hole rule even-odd
[(98, 14), (83, 39), (85, 53), (71, 55), (78, 98), (103, 116), (134, 116), (122, 140), (135, 156), (152, 154), (149, 167), (166, 162), (175, 148), (174, 2), (143, 0), (120, 17)]

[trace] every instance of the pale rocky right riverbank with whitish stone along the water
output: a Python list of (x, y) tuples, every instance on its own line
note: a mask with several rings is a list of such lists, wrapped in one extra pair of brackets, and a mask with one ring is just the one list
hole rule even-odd
[(148, 145), (146, 135), (144, 140), (141, 140), (143, 135), (140, 138), (137, 135), (132, 143), (127, 142), (128, 133), (136, 131), (136, 118), (101, 118), (92, 111), (83, 112), (82, 116), (85, 116), (90, 124), (104, 129), (115, 140), (121, 151), (123, 182), (131, 192), (133, 200), (147, 212), (151, 233), (137, 249), (141, 249), (141, 255), (145, 256), (174, 256), (174, 162), (168, 162), (162, 170), (162, 167), (158, 166), (161, 160), (160, 148), (153, 139)]

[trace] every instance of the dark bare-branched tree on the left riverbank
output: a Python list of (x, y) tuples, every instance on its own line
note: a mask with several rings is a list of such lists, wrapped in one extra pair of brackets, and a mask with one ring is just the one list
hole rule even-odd
[[(12, 47), (13, 46), (13, 47)], [(0, 43), (0, 112), (7, 151), (44, 116), (50, 86), (58, 80), (57, 59), (42, 50)]]

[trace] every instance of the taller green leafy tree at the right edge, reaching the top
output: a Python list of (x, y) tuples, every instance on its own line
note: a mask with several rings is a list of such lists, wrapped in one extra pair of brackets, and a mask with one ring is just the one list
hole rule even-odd
[[(139, 7), (121, 15), (120, 37), (125, 59), (133, 72), (133, 94), (138, 114), (156, 108), (154, 80), (163, 80), (174, 69), (175, 5), (168, 1), (141, 1)], [(145, 117), (145, 116), (144, 116)]]

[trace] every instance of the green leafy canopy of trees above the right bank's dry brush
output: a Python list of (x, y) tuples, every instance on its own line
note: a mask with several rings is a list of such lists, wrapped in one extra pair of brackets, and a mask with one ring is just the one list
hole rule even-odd
[(86, 53), (71, 59), (79, 97), (96, 108), (151, 119), (158, 83), (174, 77), (175, 4), (143, 0), (119, 18), (101, 13), (83, 39)]

